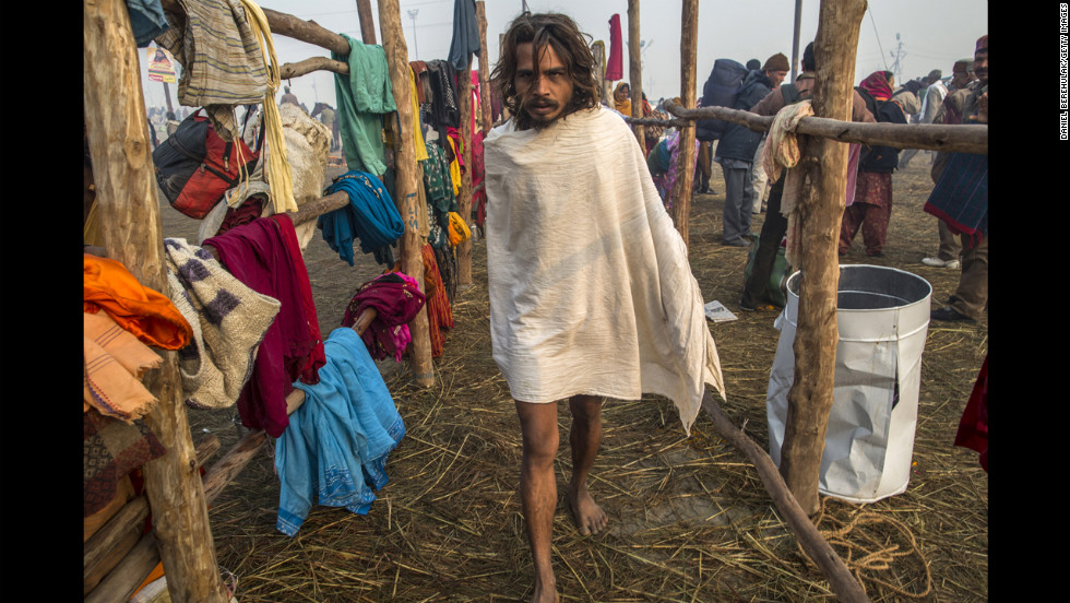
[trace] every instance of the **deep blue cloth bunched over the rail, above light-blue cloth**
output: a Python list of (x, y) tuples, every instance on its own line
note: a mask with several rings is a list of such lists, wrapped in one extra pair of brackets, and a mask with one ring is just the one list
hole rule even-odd
[(323, 194), (340, 190), (349, 196), (349, 204), (319, 217), (323, 240), (349, 265), (354, 238), (360, 239), (360, 251), (373, 253), (381, 264), (392, 264), (390, 246), (405, 234), (405, 224), (387, 187), (371, 174), (350, 169), (334, 178)]

